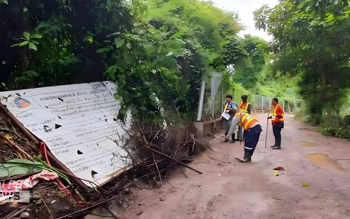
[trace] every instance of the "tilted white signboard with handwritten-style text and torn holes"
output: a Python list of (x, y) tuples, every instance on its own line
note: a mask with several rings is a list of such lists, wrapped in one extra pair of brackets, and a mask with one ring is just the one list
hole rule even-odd
[[(98, 185), (123, 172), (131, 160), (122, 148), (127, 121), (118, 121), (112, 82), (1, 92), (1, 103), (77, 177)], [(95, 186), (83, 181), (88, 186)]]

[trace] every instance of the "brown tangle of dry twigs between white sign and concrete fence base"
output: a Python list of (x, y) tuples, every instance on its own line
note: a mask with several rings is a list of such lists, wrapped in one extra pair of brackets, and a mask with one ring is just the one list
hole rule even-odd
[[(129, 153), (137, 162), (138, 176), (148, 176), (155, 174), (161, 182), (161, 178), (166, 176), (169, 166), (179, 165), (194, 170), (186, 163), (191, 160), (189, 155), (197, 154), (201, 150), (209, 148), (208, 141), (205, 141), (203, 133), (199, 134), (193, 124), (170, 125), (167, 128), (145, 128), (141, 125), (133, 126), (137, 138), (138, 150)], [(133, 147), (131, 147), (133, 148)], [(200, 171), (194, 170), (200, 174)]]

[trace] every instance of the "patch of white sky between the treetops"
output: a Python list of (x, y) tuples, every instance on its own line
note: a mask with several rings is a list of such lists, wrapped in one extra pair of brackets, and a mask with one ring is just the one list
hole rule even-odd
[(267, 35), (264, 30), (256, 30), (253, 20), (253, 11), (260, 8), (264, 4), (268, 4), (270, 7), (274, 7), (278, 4), (278, 0), (213, 0), (215, 5), (219, 8), (223, 8), (229, 11), (235, 11), (239, 13), (241, 23), (246, 26), (246, 30), (242, 30), (238, 33), (239, 36), (244, 34), (251, 34), (253, 36), (259, 36), (264, 40), (272, 40), (272, 36)]

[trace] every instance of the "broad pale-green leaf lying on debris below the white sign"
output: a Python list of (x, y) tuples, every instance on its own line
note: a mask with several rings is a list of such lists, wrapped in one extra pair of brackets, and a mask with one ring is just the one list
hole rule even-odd
[(10, 159), (0, 165), (0, 177), (9, 177), (18, 174), (27, 174), (30, 172), (40, 172), (45, 165), (37, 161), (26, 159)]

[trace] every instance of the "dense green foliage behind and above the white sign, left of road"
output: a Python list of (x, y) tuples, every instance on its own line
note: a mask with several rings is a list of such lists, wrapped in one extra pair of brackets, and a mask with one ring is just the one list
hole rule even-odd
[(142, 118), (158, 117), (160, 106), (195, 115), (201, 78), (225, 73), (224, 46), (241, 29), (236, 14), (199, 0), (11, 0), (0, 7), (6, 89), (107, 78), (118, 83), (121, 119), (132, 106)]

